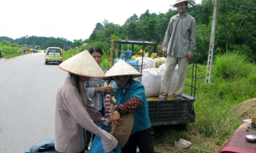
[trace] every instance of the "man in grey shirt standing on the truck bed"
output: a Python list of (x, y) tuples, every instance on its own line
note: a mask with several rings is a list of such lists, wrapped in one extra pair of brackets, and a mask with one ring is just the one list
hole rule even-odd
[(192, 59), (196, 49), (196, 20), (186, 12), (189, 2), (189, 0), (176, 0), (173, 5), (179, 14), (170, 18), (162, 44), (163, 56), (167, 59), (159, 100), (165, 100), (168, 97), (177, 61), (179, 79), (174, 92), (174, 99), (182, 99), (181, 94), (185, 85), (188, 62)]

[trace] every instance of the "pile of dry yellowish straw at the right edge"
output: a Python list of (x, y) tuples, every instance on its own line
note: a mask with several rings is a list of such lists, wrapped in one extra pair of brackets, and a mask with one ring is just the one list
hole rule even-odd
[(244, 101), (243, 103), (232, 108), (231, 112), (238, 115), (239, 119), (252, 119), (256, 116), (256, 98)]

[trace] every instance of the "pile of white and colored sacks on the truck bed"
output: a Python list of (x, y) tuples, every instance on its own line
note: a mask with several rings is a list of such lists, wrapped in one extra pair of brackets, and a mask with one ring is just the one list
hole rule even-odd
[[(132, 50), (127, 50), (127, 52), (132, 52)], [(142, 53), (142, 49), (139, 51)], [(126, 53), (127, 54), (127, 53)], [(141, 83), (145, 87), (145, 93), (147, 97), (157, 97), (160, 93), (161, 88), (161, 80), (165, 69), (166, 58), (158, 57), (156, 53), (153, 53), (150, 57), (147, 57), (148, 54), (145, 53), (144, 50), (144, 57), (141, 55), (134, 55), (129, 54), (129, 56), (125, 56), (117, 58), (116, 61), (119, 59), (126, 61), (126, 63), (133, 65), (135, 69), (139, 72), (142, 71), (142, 78)], [(134, 65), (142, 65), (142, 66), (134, 66)], [(173, 95), (174, 90), (177, 85), (177, 81), (179, 78), (179, 67), (178, 64), (175, 67), (172, 84), (170, 85), (169, 95)], [(139, 80), (140, 81), (140, 80)], [(114, 89), (117, 88), (115, 82), (113, 82), (112, 86)]]

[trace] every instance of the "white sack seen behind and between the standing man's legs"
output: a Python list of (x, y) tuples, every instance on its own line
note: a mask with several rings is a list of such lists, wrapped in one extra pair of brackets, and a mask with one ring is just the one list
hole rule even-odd
[[(162, 70), (162, 76), (163, 76), (163, 73), (164, 73), (165, 65), (166, 65), (166, 63), (162, 64), (159, 67), (159, 69)], [(172, 83), (170, 84), (170, 89), (169, 89), (169, 94), (168, 95), (174, 95), (174, 91), (175, 91), (175, 88), (177, 86), (178, 79), (179, 79), (179, 65), (177, 64), (175, 69), (174, 69)]]

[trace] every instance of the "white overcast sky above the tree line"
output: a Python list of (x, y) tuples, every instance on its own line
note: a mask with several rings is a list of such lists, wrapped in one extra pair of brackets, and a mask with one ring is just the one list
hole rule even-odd
[[(6, 0), (0, 8), (0, 36), (63, 37), (70, 41), (88, 39), (97, 22), (123, 25), (135, 13), (166, 13), (176, 0), (162, 1), (56, 1)], [(201, 3), (201, 0), (196, 0)]]

